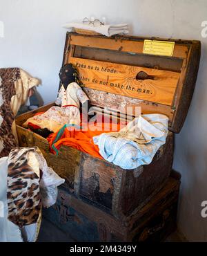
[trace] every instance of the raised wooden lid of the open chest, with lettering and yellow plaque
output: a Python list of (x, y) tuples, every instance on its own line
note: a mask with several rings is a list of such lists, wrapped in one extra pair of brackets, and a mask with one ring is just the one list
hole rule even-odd
[(179, 133), (193, 96), (200, 42), (66, 34), (63, 64), (74, 64), (93, 105), (168, 116)]

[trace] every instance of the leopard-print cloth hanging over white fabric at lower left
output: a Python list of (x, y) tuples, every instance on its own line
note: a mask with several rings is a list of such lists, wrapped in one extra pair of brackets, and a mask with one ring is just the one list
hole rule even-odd
[(39, 176), (28, 165), (34, 150), (12, 149), (8, 157), (8, 219), (20, 228), (37, 223), (41, 210)]

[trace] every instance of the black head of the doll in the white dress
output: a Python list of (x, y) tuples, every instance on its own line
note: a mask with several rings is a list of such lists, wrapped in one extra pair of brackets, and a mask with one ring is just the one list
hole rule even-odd
[(73, 68), (72, 64), (66, 64), (61, 67), (59, 78), (65, 88), (71, 82), (75, 82), (75, 68)]

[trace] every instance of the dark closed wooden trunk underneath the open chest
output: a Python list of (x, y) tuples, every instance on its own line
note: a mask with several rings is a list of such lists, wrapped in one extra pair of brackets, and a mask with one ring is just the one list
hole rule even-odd
[(61, 188), (43, 217), (74, 241), (162, 241), (176, 229), (178, 194), (179, 179), (170, 177), (150, 203), (121, 221)]

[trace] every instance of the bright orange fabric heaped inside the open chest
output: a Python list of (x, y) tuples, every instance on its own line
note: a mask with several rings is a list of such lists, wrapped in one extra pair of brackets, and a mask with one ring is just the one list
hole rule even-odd
[[(105, 125), (106, 122), (105, 122)], [(84, 124), (81, 124), (82, 127)], [(112, 129), (112, 123), (108, 123), (108, 126), (110, 127), (110, 131), (119, 131), (120, 125), (117, 125), (117, 129), (115, 130), (114, 126)], [(92, 131), (94, 127), (99, 127), (100, 131)], [(103, 134), (103, 132), (110, 132), (110, 131), (104, 131), (104, 125), (102, 122), (97, 123), (94, 125), (88, 125), (88, 131), (83, 130), (75, 130), (74, 127), (66, 128), (61, 138), (55, 143), (55, 147), (59, 150), (61, 145), (66, 145), (69, 147), (72, 147), (74, 149), (78, 149), (82, 152), (88, 153), (91, 156), (94, 156), (96, 158), (101, 158), (102, 156), (99, 154), (99, 147), (93, 143), (92, 137), (98, 136), (100, 134)], [(53, 141), (55, 140), (58, 132), (54, 134), (50, 134), (50, 136), (47, 138), (48, 142), (50, 144), (50, 152), (55, 154), (55, 151), (52, 149)]]

